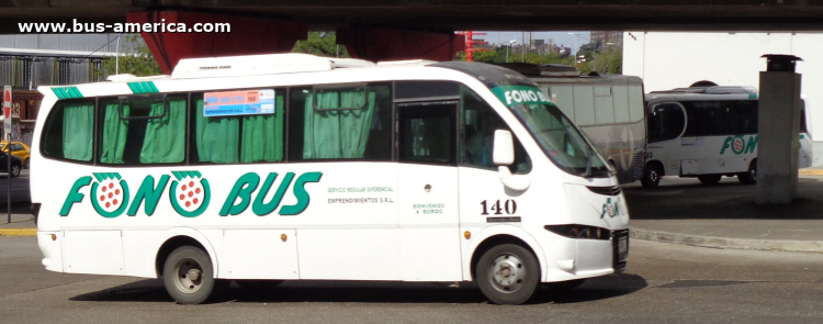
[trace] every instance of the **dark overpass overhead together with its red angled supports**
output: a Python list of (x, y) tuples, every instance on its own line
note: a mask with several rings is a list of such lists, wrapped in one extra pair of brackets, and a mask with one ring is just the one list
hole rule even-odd
[(74, 20), (232, 24), (144, 32), (168, 74), (185, 57), (290, 52), (308, 30), (336, 30), (351, 56), (370, 60), (450, 60), (465, 47), (461, 30), (818, 31), (823, 0), (0, 0), (0, 34)]

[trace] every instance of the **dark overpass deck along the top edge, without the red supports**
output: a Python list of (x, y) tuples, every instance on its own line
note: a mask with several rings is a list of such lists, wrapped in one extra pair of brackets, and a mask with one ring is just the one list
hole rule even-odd
[(18, 22), (114, 23), (159, 10), (298, 21), (312, 30), (823, 30), (823, 0), (0, 0), (0, 33), (19, 33)]

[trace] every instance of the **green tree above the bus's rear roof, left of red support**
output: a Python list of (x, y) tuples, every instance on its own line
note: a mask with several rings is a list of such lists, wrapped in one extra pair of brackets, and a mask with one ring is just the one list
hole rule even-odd
[(116, 67), (117, 59), (106, 57), (103, 59), (103, 72), (106, 76), (117, 74), (131, 74), (138, 77), (156, 76), (162, 74), (160, 66), (148, 49), (148, 45), (139, 34), (125, 34), (120, 40), (120, 68)]

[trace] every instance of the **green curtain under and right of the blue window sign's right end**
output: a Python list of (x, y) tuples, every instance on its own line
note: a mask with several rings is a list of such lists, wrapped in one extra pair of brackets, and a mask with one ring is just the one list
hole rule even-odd
[[(275, 98), (274, 114), (243, 118), (240, 161), (283, 160), (283, 96)], [(229, 142), (237, 143), (237, 142)]]

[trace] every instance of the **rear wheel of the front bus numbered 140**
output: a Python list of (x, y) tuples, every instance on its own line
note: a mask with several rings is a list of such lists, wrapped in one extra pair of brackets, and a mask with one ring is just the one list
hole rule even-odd
[(199, 304), (213, 292), (227, 287), (228, 281), (214, 279), (212, 259), (194, 246), (181, 246), (171, 252), (162, 267), (166, 291), (178, 303)]

